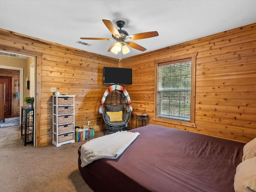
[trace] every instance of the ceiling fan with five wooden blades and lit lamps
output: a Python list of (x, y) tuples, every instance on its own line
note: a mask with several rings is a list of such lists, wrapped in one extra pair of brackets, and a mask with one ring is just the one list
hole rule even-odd
[[(138, 33), (138, 34), (133, 34), (133, 35), (129, 35), (128, 32), (126, 32), (125, 30), (122, 30), (122, 28), (125, 25), (124, 21), (117, 21), (116, 25), (120, 28), (120, 29), (116, 29), (116, 27), (114, 26), (114, 24), (112, 24), (112, 22), (110, 20), (102, 20), (104, 22), (104, 24), (106, 25), (106, 27), (108, 28), (108, 30), (112, 33), (112, 38), (113, 39), (109, 39), (109, 38), (83, 38), (81, 37), (80, 39), (88, 39), (88, 40), (116, 40), (116, 42), (114, 44), (112, 44), (110, 46), (110, 48), (108, 49), (108, 52), (113, 52), (115, 54), (118, 54), (118, 52), (120, 52), (122, 50), (123, 54), (126, 54), (128, 52), (130, 52), (129, 47), (134, 48), (136, 50), (140, 50), (140, 51), (145, 51), (146, 48), (131, 42), (129, 40), (138, 40), (138, 39), (145, 39), (145, 38), (151, 38), (151, 37), (155, 37), (158, 36), (158, 32), (157, 31), (152, 31), (152, 32), (144, 32), (144, 33)], [(126, 41), (128, 40), (128, 41)]]

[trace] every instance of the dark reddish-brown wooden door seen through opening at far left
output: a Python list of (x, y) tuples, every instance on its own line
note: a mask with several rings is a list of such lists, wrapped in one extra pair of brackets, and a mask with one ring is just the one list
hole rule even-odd
[(5, 115), (12, 115), (12, 77), (0, 76), (0, 83), (5, 83)]

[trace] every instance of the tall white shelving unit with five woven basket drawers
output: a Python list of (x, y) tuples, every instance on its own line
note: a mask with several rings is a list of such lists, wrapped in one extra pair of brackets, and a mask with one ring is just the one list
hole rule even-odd
[(74, 95), (52, 96), (52, 144), (75, 142)]

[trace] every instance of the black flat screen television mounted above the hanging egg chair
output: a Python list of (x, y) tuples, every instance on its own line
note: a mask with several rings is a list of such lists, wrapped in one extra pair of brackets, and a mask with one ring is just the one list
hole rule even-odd
[(132, 84), (132, 69), (119, 67), (104, 67), (104, 84)]

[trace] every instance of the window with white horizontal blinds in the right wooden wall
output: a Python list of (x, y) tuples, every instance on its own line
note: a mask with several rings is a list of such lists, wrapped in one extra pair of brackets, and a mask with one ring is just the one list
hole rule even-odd
[[(156, 117), (194, 122), (194, 74), (192, 58), (158, 63)], [(195, 60), (195, 59), (194, 59)], [(191, 113), (192, 112), (192, 113)]]

